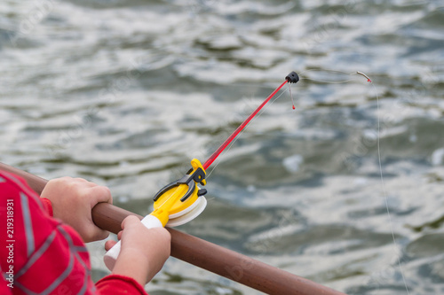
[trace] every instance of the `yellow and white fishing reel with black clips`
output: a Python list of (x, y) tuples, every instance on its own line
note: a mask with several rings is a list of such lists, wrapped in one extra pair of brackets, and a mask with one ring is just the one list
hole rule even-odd
[(197, 185), (206, 184), (205, 169), (198, 159), (193, 159), (191, 166), (193, 168), (186, 175), (155, 194), (151, 215), (157, 217), (163, 226), (172, 228), (192, 221), (207, 206), (207, 200), (203, 197), (207, 190)]

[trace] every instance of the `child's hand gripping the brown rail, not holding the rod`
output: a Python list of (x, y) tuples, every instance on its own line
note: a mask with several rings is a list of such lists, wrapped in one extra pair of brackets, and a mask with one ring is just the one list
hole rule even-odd
[(109, 233), (99, 229), (91, 217), (91, 209), (97, 203), (113, 203), (107, 187), (82, 178), (61, 177), (49, 181), (41, 197), (51, 201), (54, 217), (73, 227), (85, 243), (108, 237)]

